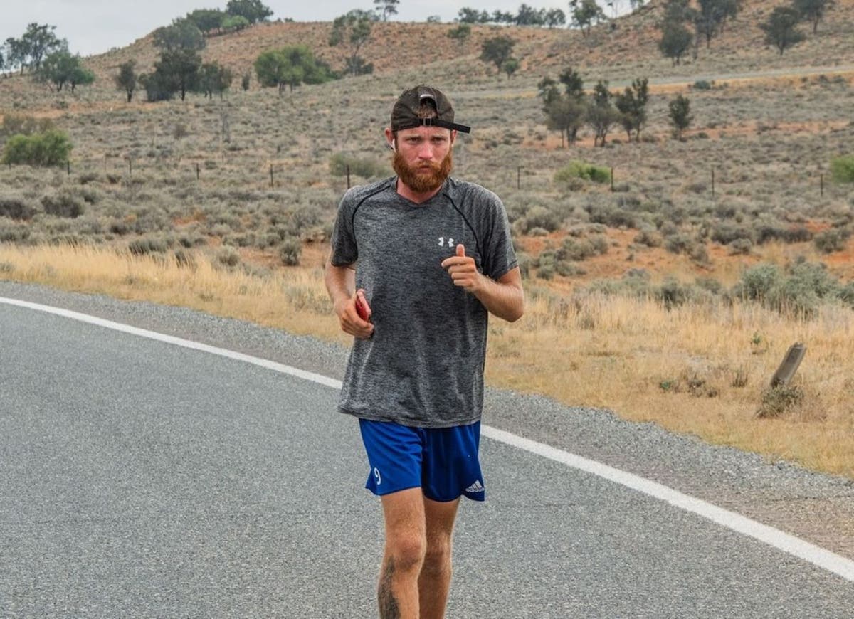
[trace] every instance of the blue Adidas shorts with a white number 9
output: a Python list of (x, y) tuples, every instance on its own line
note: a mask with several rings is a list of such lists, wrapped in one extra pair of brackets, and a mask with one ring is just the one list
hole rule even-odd
[(359, 428), (371, 465), (365, 488), (377, 496), (421, 488), (425, 497), (435, 501), (485, 498), (477, 459), (480, 422), (411, 428), (360, 419)]

